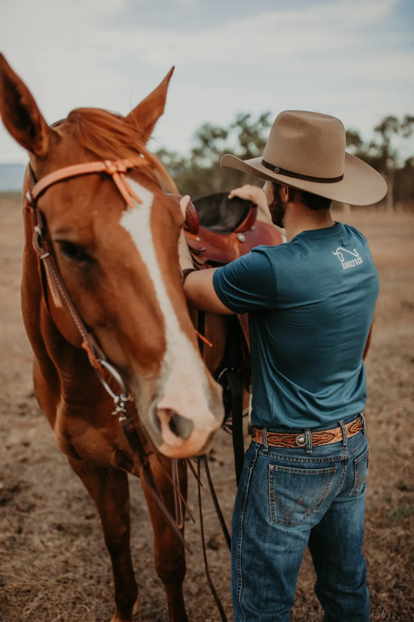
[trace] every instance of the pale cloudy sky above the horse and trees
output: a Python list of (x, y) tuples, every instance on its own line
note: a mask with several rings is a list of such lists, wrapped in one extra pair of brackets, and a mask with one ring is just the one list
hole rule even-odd
[[(127, 114), (175, 65), (153, 150), (186, 153), (200, 124), (240, 112), (333, 114), (365, 139), (414, 114), (413, 0), (0, 0), (0, 51), (48, 123)], [(0, 125), (0, 164), (17, 162)]]

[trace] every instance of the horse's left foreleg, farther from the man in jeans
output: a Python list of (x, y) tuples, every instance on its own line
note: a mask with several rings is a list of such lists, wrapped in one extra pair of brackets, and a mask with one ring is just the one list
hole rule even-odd
[(111, 622), (130, 622), (138, 598), (138, 588), (130, 552), (127, 474), (110, 466), (99, 468), (83, 460), (69, 458), (69, 463), (83, 481), (101, 516), (114, 572), (117, 608)]

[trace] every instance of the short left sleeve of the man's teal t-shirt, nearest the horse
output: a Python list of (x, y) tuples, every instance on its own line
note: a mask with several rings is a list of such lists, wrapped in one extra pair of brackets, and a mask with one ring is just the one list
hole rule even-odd
[(218, 268), (213, 275), (215, 293), (234, 313), (276, 309), (276, 271), (266, 247)]

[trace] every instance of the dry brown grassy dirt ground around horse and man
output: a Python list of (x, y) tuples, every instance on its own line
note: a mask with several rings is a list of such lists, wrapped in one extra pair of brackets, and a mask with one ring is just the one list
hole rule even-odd
[[(0, 621), (106, 622), (114, 611), (112, 573), (94, 504), (66, 458), (32, 392), (31, 350), (20, 314), (23, 244), (20, 207), (0, 198)], [(341, 215), (338, 215), (341, 220)], [(365, 554), (372, 621), (414, 620), (414, 215), (351, 213), (343, 220), (367, 236), (380, 275), (371, 351), (366, 361), (371, 442)], [(231, 439), (220, 432), (210, 455), (217, 493), (230, 523), (235, 480)], [(140, 585), (135, 621), (164, 622), (166, 601), (153, 564), (148, 511), (130, 480), (132, 555)], [(190, 485), (196, 509), (196, 486)], [(205, 496), (210, 570), (232, 620), (229, 554)], [(199, 524), (186, 523), (185, 597), (192, 622), (219, 620), (202, 565)], [(322, 620), (315, 576), (305, 555), (294, 622)]]

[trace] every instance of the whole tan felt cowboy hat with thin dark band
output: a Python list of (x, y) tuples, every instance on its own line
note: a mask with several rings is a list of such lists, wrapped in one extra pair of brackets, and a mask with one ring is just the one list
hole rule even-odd
[(222, 167), (351, 205), (377, 203), (387, 192), (376, 170), (346, 153), (340, 119), (302, 110), (286, 110), (276, 117), (263, 157), (243, 162), (227, 154)]

